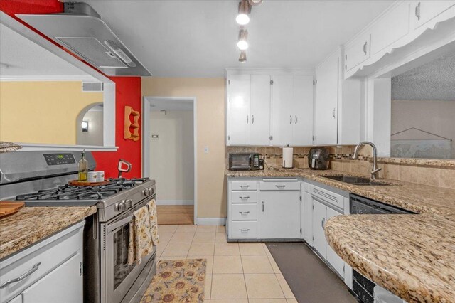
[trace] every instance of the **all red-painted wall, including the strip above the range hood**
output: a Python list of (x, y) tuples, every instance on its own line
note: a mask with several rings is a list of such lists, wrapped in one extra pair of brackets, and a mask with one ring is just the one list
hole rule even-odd
[[(53, 14), (63, 11), (63, 3), (58, 0), (0, 0), (0, 11), (3, 11), (14, 18), (16, 18), (14, 14)], [(20, 20), (18, 21), (21, 22)], [(48, 40), (50, 39), (48, 38)], [(72, 55), (74, 54), (72, 53)], [(77, 56), (75, 57), (77, 58)], [(105, 171), (105, 175), (109, 178), (117, 177), (118, 161), (119, 159), (124, 159), (132, 164), (132, 171), (123, 174), (122, 176), (126, 178), (139, 178), (142, 175), (141, 139), (138, 141), (124, 139), (123, 126), (124, 107), (126, 105), (141, 112), (141, 78), (109, 78), (115, 82), (115, 142), (119, 149), (117, 151), (94, 152), (93, 154), (97, 161), (96, 169)], [(141, 124), (141, 119), (139, 119), (139, 124)]]

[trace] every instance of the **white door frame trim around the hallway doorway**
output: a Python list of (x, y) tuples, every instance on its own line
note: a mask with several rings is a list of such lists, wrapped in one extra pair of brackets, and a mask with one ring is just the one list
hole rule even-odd
[[(197, 120), (196, 120), (196, 97), (158, 97), (144, 96), (142, 98), (142, 176), (150, 177), (150, 105), (151, 100), (168, 100), (193, 102), (193, 156), (194, 156), (194, 225), (198, 225), (198, 145), (197, 145)], [(159, 189), (158, 189), (159, 191)]]

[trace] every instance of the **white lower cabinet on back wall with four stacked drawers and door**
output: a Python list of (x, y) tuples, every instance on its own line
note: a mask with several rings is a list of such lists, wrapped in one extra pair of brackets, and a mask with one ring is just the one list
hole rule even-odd
[(229, 240), (301, 238), (301, 180), (228, 179)]

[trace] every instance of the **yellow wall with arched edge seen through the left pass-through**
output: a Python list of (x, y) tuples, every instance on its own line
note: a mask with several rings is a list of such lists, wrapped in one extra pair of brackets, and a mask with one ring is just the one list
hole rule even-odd
[(77, 115), (102, 99), (80, 81), (0, 82), (0, 140), (76, 144)]

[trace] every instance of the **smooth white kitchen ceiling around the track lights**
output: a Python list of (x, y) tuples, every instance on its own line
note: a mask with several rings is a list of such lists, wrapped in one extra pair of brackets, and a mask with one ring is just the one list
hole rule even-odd
[(393, 2), (265, 0), (252, 8), (239, 63), (238, 0), (86, 0), (155, 77), (223, 77), (225, 68), (314, 68)]

